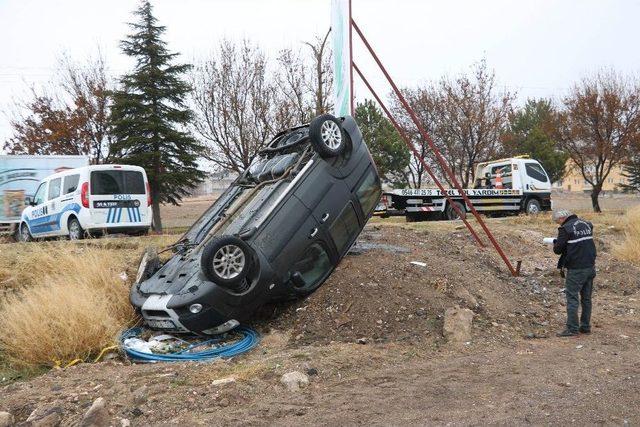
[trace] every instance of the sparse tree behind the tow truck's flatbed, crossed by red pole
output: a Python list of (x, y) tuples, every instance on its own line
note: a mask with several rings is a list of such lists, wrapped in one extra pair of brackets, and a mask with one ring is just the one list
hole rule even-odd
[[(487, 70), (484, 60), (474, 65), (471, 76), (462, 74), (454, 79), (445, 76), (437, 83), (403, 89), (403, 96), (460, 185), (473, 184), (476, 163), (499, 152), (500, 136), (508, 129), (514, 96), (496, 90), (495, 74)], [(438, 179), (453, 185), (400, 102), (392, 99), (392, 111), (420, 157)], [(410, 173), (415, 187), (424, 184), (426, 171), (415, 156), (411, 159)]]

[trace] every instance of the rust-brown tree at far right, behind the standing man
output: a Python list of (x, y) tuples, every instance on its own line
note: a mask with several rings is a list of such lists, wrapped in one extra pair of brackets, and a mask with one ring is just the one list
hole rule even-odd
[(612, 168), (640, 142), (640, 84), (614, 71), (601, 71), (576, 84), (563, 100), (559, 141), (584, 179), (591, 184), (591, 204)]

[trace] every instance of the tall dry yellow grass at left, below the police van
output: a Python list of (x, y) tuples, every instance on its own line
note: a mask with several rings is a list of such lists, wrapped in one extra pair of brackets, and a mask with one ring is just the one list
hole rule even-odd
[(16, 369), (64, 365), (113, 344), (136, 321), (129, 289), (142, 248), (170, 240), (175, 236), (0, 245), (5, 363)]

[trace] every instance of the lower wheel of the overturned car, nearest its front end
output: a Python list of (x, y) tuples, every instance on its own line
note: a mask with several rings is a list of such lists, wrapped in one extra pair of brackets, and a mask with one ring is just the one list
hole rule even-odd
[(212, 238), (200, 257), (200, 268), (211, 282), (239, 291), (252, 264), (251, 248), (236, 236)]

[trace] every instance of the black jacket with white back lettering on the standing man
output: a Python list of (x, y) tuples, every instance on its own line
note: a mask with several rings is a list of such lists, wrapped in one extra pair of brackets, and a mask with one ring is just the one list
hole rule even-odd
[(571, 215), (558, 227), (553, 252), (561, 255), (558, 268), (589, 268), (596, 263), (593, 224)]

